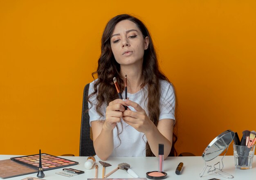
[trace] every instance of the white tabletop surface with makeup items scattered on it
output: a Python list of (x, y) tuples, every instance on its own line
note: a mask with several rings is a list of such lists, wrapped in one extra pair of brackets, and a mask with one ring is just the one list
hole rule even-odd
[[(17, 157), (20, 155), (0, 155), (0, 160), (9, 159), (11, 157)], [(60, 169), (53, 169), (49, 171), (44, 171), (45, 173), (45, 180), (87, 180), (87, 178), (94, 178), (95, 175), (95, 165), (92, 169), (85, 169), (84, 163), (87, 160), (87, 157), (79, 157), (79, 156), (65, 156), (63, 158), (74, 160), (79, 162), (79, 165), (70, 166), (73, 169), (79, 169), (85, 171), (85, 173), (73, 176), (73, 177), (65, 177), (61, 175), (55, 174), (55, 172), (62, 171)], [(207, 162), (207, 165), (213, 165), (221, 159), (221, 156), (217, 157), (214, 160)], [(216, 162), (215, 162), (216, 161)], [(156, 157), (110, 157), (106, 161), (110, 163), (112, 166), (106, 167), (106, 173), (112, 171), (117, 167), (119, 163), (126, 162), (130, 165), (130, 169), (135, 171), (139, 178), (146, 178), (146, 172), (148, 171), (157, 171), (158, 170), (158, 158)], [(183, 162), (184, 167), (182, 169), (182, 173), (180, 175), (175, 174), (175, 169), (177, 165)], [(240, 170), (235, 169), (234, 167), (234, 157), (233, 156), (226, 156), (223, 159), (224, 168), (223, 171), (230, 173), (234, 176), (234, 180), (253, 180), (256, 179), (256, 160), (254, 160), (252, 164), (252, 169), (249, 170)], [(102, 176), (102, 165), (99, 164), (99, 158), (96, 158), (96, 164), (99, 165), (99, 172), (98, 178)], [(201, 156), (193, 156), (193, 157), (168, 157), (164, 160), (164, 172), (168, 175), (167, 180), (209, 180), (211, 178), (217, 178), (220, 180), (225, 180), (219, 176), (218, 174), (214, 174), (212, 172), (204, 173), (204, 176), (200, 178), (199, 173), (204, 167), (204, 160)], [(27, 177), (35, 177), (37, 173), (24, 175), (24, 176), (17, 176), (14, 178), (8, 178), (9, 180), (21, 180)], [(132, 178), (126, 171), (124, 170), (117, 170), (115, 173), (110, 175), (108, 178)]]

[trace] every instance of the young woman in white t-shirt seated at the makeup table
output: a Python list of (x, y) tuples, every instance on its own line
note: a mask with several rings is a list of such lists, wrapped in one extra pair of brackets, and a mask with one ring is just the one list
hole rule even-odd
[[(96, 73), (88, 101), (97, 156), (158, 156), (161, 143), (166, 158), (173, 143), (175, 92), (159, 70), (150, 34), (140, 20), (123, 14), (108, 22), (92, 75)], [(128, 100), (119, 99), (113, 82), (116, 77), (125, 97), (125, 75)]]

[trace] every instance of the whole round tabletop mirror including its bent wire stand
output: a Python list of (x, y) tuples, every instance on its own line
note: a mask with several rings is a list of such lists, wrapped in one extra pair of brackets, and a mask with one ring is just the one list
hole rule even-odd
[[(202, 177), (204, 175), (204, 172), (208, 167), (209, 170), (207, 171), (207, 173), (213, 172), (213, 173), (219, 174), (221, 176), (224, 176), (225, 178), (234, 178), (234, 176), (232, 176), (231, 174), (225, 173), (224, 171), (222, 171), (222, 169), (224, 167), (222, 160), (225, 157), (228, 147), (229, 147), (230, 143), (232, 142), (234, 136), (235, 136), (235, 133), (231, 130), (222, 132), (220, 135), (218, 135), (216, 138), (214, 138), (211, 141), (211, 143), (204, 149), (202, 158), (204, 159), (205, 165), (199, 174), (200, 177)], [(226, 152), (222, 156), (221, 162), (218, 162), (213, 166), (206, 164), (207, 161), (213, 160), (214, 158), (218, 157), (225, 150), (226, 150)]]

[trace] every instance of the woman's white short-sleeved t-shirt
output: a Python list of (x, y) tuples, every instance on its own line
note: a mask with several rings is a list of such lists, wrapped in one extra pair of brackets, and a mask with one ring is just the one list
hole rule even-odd
[[(91, 94), (92, 92), (94, 92), (93, 90), (94, 82), (95, 81), (90, 83), (88, 94)], [(171, 83), (164, 80), (160, 80), (160, 86), (161, 86), (161, 98), (160, 98), (159, 120), (161, 119), (175, 120), (175, 115), (174, 115), (175, 114), (175, 92), (174, 92), (173, 86)], [(141, 106), (141, 108), (143, 108), (146, 111), (146, 114), (148, 114), (147, 100), (145, 101), (145, 98), (147, 97), (147, 94), (148, 94), (146, 87), (139, 90), (135, 94), (127, 93), (127, 97), (129, 98), (130, 101), (134, 101), (135, 103), (138, 103)], [(124, 93), (125, 92), (122, 92), (122, 97), (124, 97)], [(103, 105), (102, 107), (102, 110), (103, 110), (102, 112), (104, 116), (101, 117), (96, 111), (96, 104), (97, 104), (96, 96), (91, 97), (90, 101), (92, 102), (92, 105), (88, 103), (90, 125), (92, 121), (105, 120), (106, 105)], [(129, 108), (130, 110), (134, 110), (134, 108), (130, 106)], [(117, 132), (117, 127), (119, 132)], [(121, 120), (120, 123), (117, 123), (117, 127), (115, 127), (113, 130), (114, 149), (110, 156), (129, 156), (129, 157), (146, 156), (147, 139), (144, 133), (138, 132), (137, 130), (135, 130), (135, 128), (128, 125), (123, 120)], [(119, 138), (121, 142), (117, 136), (118, 133), (119, 133)]]

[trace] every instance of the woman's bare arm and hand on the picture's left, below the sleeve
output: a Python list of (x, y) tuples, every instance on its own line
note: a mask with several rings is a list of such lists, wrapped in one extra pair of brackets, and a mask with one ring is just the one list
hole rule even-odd
[(116, 99), (106, 108), (106, 120), (92, 121), (93, 146), (101, 160), (107, 160), (114, 148), (113, 129), (121, 121), (126, 103)]

